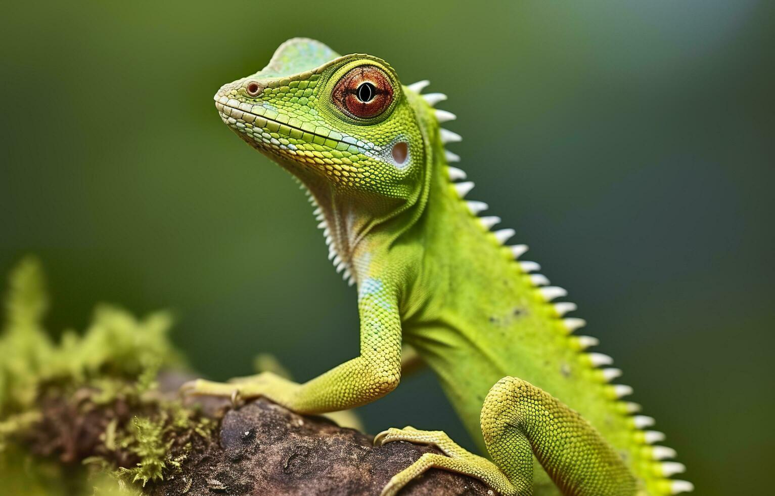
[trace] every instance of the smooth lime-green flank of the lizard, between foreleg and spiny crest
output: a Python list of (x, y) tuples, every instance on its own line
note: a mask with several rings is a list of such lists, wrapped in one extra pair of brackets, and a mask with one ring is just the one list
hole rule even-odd
[[(503, 376), (516, 376), (578, 411), (643, 477), (649, 462), (632, 419), (511, 251), (460, 200), (447, 179), (443, 146), (434, 140), (429, 200), (409, 233), (422, 236), (415, 242), (423, 249), (408, 295), (417, 308), (404, 322), (405, 342), (439, 376), (483, 453), (484, 397)], [(534, 467), (535, 494), (560, 494), (537, 462)]]

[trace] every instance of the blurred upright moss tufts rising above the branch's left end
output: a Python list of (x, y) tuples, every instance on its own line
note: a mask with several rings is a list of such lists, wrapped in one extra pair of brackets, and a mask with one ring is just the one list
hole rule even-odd
[(0, 336), (0, 418), (33, 408), (41, 387), (51, 383), (136, 380), (146, 373), (147, 386), (149, 370), (181, 363), (167, 338), (171, 317), (166, 312), (137, 319), (101, 304), (82, 335), (68, 330), (54, 344), (42, 324), (48, 298), (40, 262), (20, 262), (9, 287)]

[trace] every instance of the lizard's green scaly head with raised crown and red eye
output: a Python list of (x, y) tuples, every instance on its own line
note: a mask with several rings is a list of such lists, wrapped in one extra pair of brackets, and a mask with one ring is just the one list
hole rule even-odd
[(266, 68), (223, 85), (220, 116), (325, 203), (355, 199), (371, 216), (400, 210), (422, 189), (424, 144), (393, 68), (295, 38)]

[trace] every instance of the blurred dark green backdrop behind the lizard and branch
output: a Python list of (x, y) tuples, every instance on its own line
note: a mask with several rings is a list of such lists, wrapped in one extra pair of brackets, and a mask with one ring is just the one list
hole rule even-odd
[[(296, 183), (212, 95), (291, 36), (429, 78), (453, 151), (570, 291), (697, 494), (771, 494), (775, 4), (13, 2), (0, 19), (0, 272), (43, 259), (50, 327), (173, 309), (216, 379), (357, 352), (355, 295)], [(429, 373), (371, 432), (470, 439)]]

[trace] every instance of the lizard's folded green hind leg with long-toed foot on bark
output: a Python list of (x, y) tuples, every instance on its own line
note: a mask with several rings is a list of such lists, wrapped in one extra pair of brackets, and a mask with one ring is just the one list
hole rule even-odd
[(634, 496), (636, 479), (600, 433), (576, 411), (538, 387), (504, 377), (484, 400), (482, 434), (490, 460), (468, 453), (440, 431), (388, 429), (374, 442), (408, 441), (439, 447), (446, 456), (425, 453), (396, 474), (382, 496), (429, 468), (464, 473), (504, 496), (532, 494), (533, 455), (563, 494)]

